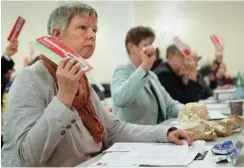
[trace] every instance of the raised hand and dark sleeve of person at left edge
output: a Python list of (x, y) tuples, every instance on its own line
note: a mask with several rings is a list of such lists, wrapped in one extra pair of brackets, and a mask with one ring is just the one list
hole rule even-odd
[(18, 40), (14, 40), (12, 43), (10, 43), (5, 53), (3, 54), (1, 58), (1, 103), (3, 105), (3, 94), (6, 88), (7, 83), (10, 81), (13, 67), (14, 67), (14, 61), (12, 60), (11, 56), (13, 56), (18, 51)]

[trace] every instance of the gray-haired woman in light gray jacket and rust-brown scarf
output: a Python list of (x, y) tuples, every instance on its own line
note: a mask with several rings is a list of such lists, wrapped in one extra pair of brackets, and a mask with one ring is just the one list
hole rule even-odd
[[(97, 13), (85, 4), (56, 8), (48, 33), (83, 58), (95, 49)], [(25, 68), (9, 92), (2, 166), (76, 166), (118, 141), (174, 142), (191, 136), (165, 126), (120, 122), (107, 112), (78, 62), (45, 56)]]

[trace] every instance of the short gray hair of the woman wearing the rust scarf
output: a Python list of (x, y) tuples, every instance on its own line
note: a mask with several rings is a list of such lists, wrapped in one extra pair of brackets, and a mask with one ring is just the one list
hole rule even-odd
[(62, 33), (69, 26), (74, 15), (88, 14), (97, 18), (97, 12), (91, 6), (81, 3), (67, 3), (54, 9), (49, 16), (47, 23), (48, 34), (51, 35), (54, 28), (59, 29)]

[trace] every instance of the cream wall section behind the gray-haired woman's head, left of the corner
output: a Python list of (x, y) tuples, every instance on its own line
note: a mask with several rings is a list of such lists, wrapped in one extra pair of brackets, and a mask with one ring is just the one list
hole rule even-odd
[[(84, 1), (85, 2), (85, 1)], [(13, 57), (19, 72), (23, 69), (24, 56), (30, 51), (29, 43), (47, 34), (47, 20), (51, 11), (65, 2), (26, 1), (2, 2), (2, 50), (8, 44), (7, 37), (18, 15), (26, 19), (19, 36), (19, 51)], [(98, 12), (96, 50), (89, 60), (94, 66), (92, 74), (101, 82), (110, 82), (114, 68), (127, 61), (124, 39), (133, 24), (133, 2), (86, 2)]]

